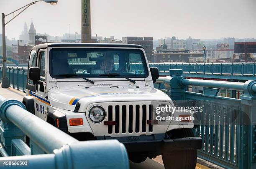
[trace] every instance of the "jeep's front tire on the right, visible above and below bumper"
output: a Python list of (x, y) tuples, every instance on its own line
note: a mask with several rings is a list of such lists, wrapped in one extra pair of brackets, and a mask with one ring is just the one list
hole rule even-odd
[[(169, 133), (174, 138), (195, 137), (192, 129), (174, 129)], [(179, 150), (170, 154), (163, 154), (162, 159), (166, 169), (195, 169), (197, 164), (197, 150)]]

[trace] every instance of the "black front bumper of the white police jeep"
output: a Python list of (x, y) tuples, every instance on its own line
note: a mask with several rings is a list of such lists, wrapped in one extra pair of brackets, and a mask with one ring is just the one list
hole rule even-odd
[(117, 139), (123, 143), (129, 153), (133, 152), (154, 152), (156, 154), (169, 153), (176, 150), (201, 149), (202, 138), (184, 137), (168, 139), (166, 134), (152, 134), (150, 136), (129, 136), (129, 137), (97, 137), (97, 139)]

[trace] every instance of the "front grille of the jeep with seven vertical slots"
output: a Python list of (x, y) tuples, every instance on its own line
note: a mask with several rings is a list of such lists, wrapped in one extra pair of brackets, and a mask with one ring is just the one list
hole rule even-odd
[(108, 134), (153, 132), (153, 125), (147, 124), (152, 108), (151, 104), (108, 106), (108, 121), (115, 121), (108, 126)]

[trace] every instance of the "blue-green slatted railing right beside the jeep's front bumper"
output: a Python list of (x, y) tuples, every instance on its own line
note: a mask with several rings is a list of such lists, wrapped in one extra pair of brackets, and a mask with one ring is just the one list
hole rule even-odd
[[(196, 137), (202, 137), (198, 157), (228, 169), (256, 168), (256, 81), (220, 82), (193, 80), (182, 70), (169, 70), (157, 83), (177, 104), (204, 107), (195, 114)], [(202, 86), (204, 93), (189, 92), (189, 86)], [(160, 85), (155, 85), (161, 87)], [(243, 90), (241, 99), (218, 96), (218, 88)]]

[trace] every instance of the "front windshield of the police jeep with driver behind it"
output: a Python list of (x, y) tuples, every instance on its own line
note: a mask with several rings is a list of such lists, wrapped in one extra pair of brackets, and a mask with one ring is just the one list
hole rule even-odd
[[(105, 76), (107, 74), (119, 76)], [(54, 78), (147, 77), (148, 68), (142, 50), (53, 48), (50, 75)]]

